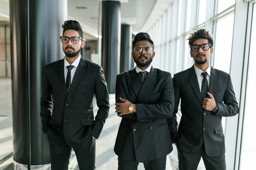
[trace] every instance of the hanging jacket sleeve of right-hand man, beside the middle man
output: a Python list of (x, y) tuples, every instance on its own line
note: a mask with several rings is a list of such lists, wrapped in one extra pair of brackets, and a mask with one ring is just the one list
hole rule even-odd
[(176, 114), (178, 112), (181, 96), (180, 96), (179, 84), (175, 78), (175, 75), (173, 78), (173, 82), (174, 82), (174, 112), (172, 117), (168, 119), (168, 124), (169, 124), (172, 141), (176, 143), (176, 136), (178, 134), (178, 122), (177, 122)]

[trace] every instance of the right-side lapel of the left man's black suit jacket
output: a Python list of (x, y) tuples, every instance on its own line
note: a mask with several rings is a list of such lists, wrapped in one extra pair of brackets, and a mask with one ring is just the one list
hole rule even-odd
[(83, 75), (84, 72), (85, 72), (85, 68), (84, 68), (85, 66), (86, 66), (86, 62), (85, 62), (85, 60), (82, 59), (82, 57), (81, 57), (80, 62), (79, 62), (79, 64), (78, 64), (77, 68), (76, 68), (76, 71), (75, 71), (75, 74), (74, 74), (74, 77), (73, 77), (73, 80), (72, 80), (72, 83), (71, 83), (70, 90), (69, 90), (69, 92), (68, 92), (67, 98), (72, 95), (74, 89), (75, 89), (76, 86), (78, 85), (78, 83), (79, 83), (79, 81), (80, 81), (82, 75)]

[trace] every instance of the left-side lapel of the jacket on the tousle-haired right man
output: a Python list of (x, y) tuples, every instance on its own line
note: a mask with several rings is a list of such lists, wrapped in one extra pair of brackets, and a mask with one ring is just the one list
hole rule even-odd
[(194, 66), (192, 66), (190, 69), (189, 69), (189, 81), (192, 85), (192, 88), (194, 90), (194, 92), (196, 93), (196, 96), (199, 100), (200, 103), (202, 103), (202, 99), (201, 99), (201, 92), (200, 92), (200, 88), (199, 88), (199, 84), (198, 84), (198, 79), (197, 79), (197, 76), (196, 76), (196, 73), (195, 73), (195, 68)]

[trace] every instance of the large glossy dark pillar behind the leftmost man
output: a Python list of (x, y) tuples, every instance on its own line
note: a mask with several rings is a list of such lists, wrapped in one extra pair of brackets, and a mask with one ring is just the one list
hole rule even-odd
[(50, 163), (40, 118), (42, 71), (63, 58), (64, 0), (9, 0), (12, 70), (13, 159), (30, 165)]

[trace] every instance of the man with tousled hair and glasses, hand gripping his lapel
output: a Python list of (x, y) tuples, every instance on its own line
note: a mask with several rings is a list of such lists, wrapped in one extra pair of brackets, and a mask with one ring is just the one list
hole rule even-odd
[[(209, 31), (195, 31), (188, 40), (194, 65), (174, 75), (175, 104), (170, 119), (179, 170), (197, 170), (201, 157), (206, 170), (226, 170), (221, 119), (239, 111), (231, 78), (210, 66), (213, 39)], [(182, 117), (177, 129), (180, 99)]]

